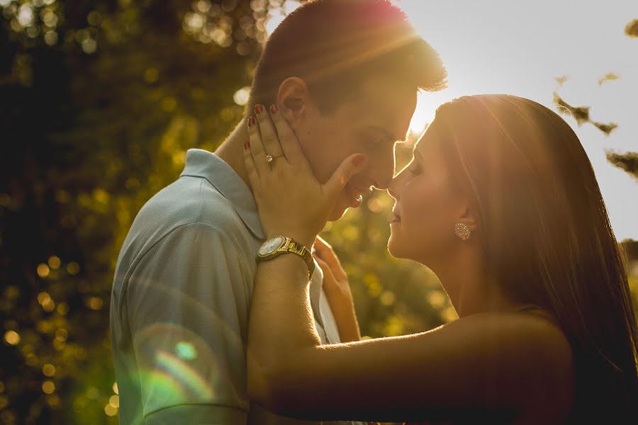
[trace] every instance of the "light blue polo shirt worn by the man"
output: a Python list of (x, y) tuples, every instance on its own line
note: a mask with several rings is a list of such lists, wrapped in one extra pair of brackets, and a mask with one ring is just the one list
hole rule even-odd
[[(265, 412), (246, 395), (264, 239), (244, 181), (215, 154), (189, 149), (181, 176), (142, 207), (118, 256), (111, 344), (121, 424), (308, 423)], [(316, 270), (315, 327), (323, 344), (339, 342)]]

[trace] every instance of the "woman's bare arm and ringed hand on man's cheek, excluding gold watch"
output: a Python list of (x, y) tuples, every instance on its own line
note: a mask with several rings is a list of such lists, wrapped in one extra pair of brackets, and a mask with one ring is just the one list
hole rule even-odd
[[(272, 124), (267, 126), (269, 118), (258, 119), (260, 132), (249, 130), (245, 160), (264, 230), (310, 246), (330, 210), (317, 203), (325, 202), (325, 193), (334, 196), (353, 171), (342, 164), (339, 176), (331, 179), (335, 186), (317, 189), (310, 167), (300, 162), (298, 142), (276, 114), (287, 160), (277, 159), (270, 168), (264, 151), (276, 148), (264, 145), (278, 138)], [(531, 314), (474, 314), (422, 334), (326, 346), (320, 345), (313, 323), (303, 259), (282, 254), (259, 263), (247, 385), (250, 397), (272, 412), (305, 419), (401, 421), (498, 407), (537, 406), (547, 412), (556, 397), (570, 394), (565, 388), (571, 382), (569, 343), (554, 325)]]

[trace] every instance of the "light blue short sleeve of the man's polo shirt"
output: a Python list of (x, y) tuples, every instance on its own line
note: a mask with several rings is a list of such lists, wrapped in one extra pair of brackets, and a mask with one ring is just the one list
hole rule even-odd
[(250, 276), (232, 235), (199, 222), (135, 266), (127, 312), (146, 424), (245, 424)]

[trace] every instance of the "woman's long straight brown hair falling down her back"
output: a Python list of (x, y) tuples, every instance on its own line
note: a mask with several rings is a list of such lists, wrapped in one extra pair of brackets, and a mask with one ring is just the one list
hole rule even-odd
[(573, 421), (636, 420), (638, 330), (626, 260), (576, 134), (548, 108), (508, 95), (446, 103), (428, 132), (474, 200), (488, 276), (513, 300), (552, 312), (569, 339)]

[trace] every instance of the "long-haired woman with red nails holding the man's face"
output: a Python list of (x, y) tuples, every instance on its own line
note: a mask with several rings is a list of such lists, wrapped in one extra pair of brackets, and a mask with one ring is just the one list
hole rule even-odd
[[(310, 247), (365, 164), (353, 154), (320, 184), (280, 113), (257, 122), (245, 162), (264, 231)], [(308, 264), (295, 254), (260, 261), (251, 397), (308, 419), (635, 423), (627, 273), (591, 163), (564, 120), (515, 96), (446, 103), (388, 192), (396, 199), (388, 250), (431, 268), (459, 319), (320, 346)], [(347, 287), (330, 248), (317, 245), (320, 266)]]

